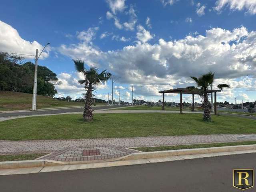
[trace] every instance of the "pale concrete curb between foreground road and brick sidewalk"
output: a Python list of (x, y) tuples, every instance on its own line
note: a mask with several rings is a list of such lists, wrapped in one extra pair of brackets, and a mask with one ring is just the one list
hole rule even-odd
[[(222, 152), (239, 152), (239, 151), (247, 151), (247, 152), (256, 152), (256, 144), (253, 145), (240, 145), (240, 146), (224, 146), (224, 147), (212, 147), (212, 148), (197, 148), (197, 149), (182, 149), (182, 150), (169, 150), (169, 151), (156, 151), (156, 152), (141, 152), (141, 153), (133, 153), (124, 157), (109, 159), (109, 160), (95, 160), (95, 161), (83, 161), (83, 162), (60, 162), (53, 160), (24, 160), (24, 161), (7, 161), (0, 162), (0, 175), (1, 171), (8, 169), (17, 169), (17, 168), (33, 168), (33, 167), (51, 167), (51, 166), (70, 166), (70, 165), (82, 165), (82, 164), (106, 164), (110, 162), (126, 162), (126, 161), (134, 161), (141, 160), (142, 162), (147, 161), (147, 159), (155, 159), (155, 158), (167, 158), (167, 157), (175, 157), (177, 158), (181, 156), (187, 155), (198, 155), (198, 154), (214, 154), (214, 153), (222, 153)], [(234, 154), (234, 153), (231, 153)], [(200, 156), (199, 156), (200, 157)], [(198, 158), (199, 158), (198, 157)], [(160, 161), (160, 160), (158, 160)], [(122, 164), (122, 163), (121, 163)], [(97, 167), (97, 166), (96, 166)]]

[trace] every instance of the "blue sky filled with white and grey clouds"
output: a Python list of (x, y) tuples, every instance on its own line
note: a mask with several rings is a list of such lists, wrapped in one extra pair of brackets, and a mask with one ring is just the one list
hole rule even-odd
[[(156, 102), (158, 91), (195, 86), (190, 76), (210, 71), (213, 89), (230, 84), (217, 101), (256, 100), (256, 0), (8, 0), (0, 10), (0, 51), (35, 55), (50, 42), (38, 64), (57, 74), (57, 97), (82, 96), (72, 61), (82, 59), (114, 75), (117, 101), (120, 90), (131, 102), (134, 86), (134, 98)], [(111, 100), (111, 88), (96, 97)]]

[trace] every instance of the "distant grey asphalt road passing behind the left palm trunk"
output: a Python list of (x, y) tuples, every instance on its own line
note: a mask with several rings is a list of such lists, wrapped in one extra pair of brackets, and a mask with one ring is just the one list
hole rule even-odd
[[(109, 106), (93, 106), (94, 110), (99, 109), (111, 109), (118, 108), (124, 106), (118, 105), (109, 105)], [(40, 115), (40, 114), (60, 114), (60, 113), (68, 113), (68, 112), (80, 112), (83, 111), (84, 107), (75, 107), (75, 108), (61, 108), (61, 109), (48, 109), (48, 110), (37, 110), (37, 111), (22, 111), (22, 112), (8, 112), (8, 113), (0, 113), (0, 117), (13, 117), (13, 116), (27, 116), (27, 115)]]

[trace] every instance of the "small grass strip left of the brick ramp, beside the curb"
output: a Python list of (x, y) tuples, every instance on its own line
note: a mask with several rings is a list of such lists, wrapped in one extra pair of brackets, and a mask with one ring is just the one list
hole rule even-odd
[(46, 153), (36, 153), (36, 154), (19, 154), (19, 155), (0, 155), (1, 161), (22, 161), (22, 160), (35, 160), (36, 158), (42, 157)]

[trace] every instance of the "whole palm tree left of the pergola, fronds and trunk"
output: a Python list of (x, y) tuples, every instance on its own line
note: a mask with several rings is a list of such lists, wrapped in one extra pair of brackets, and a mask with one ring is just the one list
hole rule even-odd
[(84, 80), (79, 80), (80, 84), (84, 84), (84, 88), (86, 93), (85, 97), (85, 105), (84, 105), (84, 121), (92, 121), (93, 117), (93, 109), (92, 109), (92, 98), (94, 96), (93, 92), (96, 90), (96, 85), (102, 84), (111, 78), (112, 74), (103, 70), (101, 73), (98, 73), (99, 69), (96, 66), (90, 66), (90, 69), (86, 69), (84, 67), (83, 60), (73, 60), (76, 70), (78, 72), (82, 72), (84, 75)]

